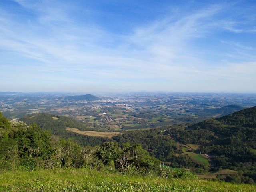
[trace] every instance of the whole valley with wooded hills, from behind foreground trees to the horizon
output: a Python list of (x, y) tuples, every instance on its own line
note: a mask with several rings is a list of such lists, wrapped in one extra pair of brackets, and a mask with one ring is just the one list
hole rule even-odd
[[(52, 134), (52, 142), (72, 140), (93, 151), (110, 143), (123, 152), (126, 145), (130, 150), (140, 145), (144, 154), (166, 163), (162, 168), (189, 170), (204, 179), (253, 183), (256, 108), (250, 106), (255, 104), (255, 96), (2, 94), (0, 103), (3, 115), (14, 119), (13, 126), (20, 121), (27, 125), (35, 122), (42, 131)], [(86, 97), (88, 101), (80, 100)], [(61, 142), (58, 145), (62, 149)], [(120, 163), (120, 159), (114, 160), (116, 168)]]

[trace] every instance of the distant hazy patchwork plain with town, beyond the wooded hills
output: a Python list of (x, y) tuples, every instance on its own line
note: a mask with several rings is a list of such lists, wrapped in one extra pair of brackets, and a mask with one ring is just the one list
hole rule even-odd
[(196, 123), (256, 105), (256, 94), (126, 93), (93, 98), (64, 93), (0, 93), (0, 110), (9, 119), (49, 113), (92, 128), (135, 130)]

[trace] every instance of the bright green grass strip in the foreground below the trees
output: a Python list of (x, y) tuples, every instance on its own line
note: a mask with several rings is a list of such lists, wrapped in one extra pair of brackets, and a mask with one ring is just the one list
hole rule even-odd
[(0, 191), (110, 191), (110, 192), (252, 192), (256, 185), (230, 184), (200, 179), (170, 179), (124, 176), (83, 169), (4, 171)]

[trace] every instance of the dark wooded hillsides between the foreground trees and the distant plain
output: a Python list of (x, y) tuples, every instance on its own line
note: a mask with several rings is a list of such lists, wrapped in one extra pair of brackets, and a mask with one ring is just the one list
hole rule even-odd
[[(135, 130), (113, 138), (68, 132), (66, 127), (90, 129), (63, 116), (34, 114), (21, 120), (27, 124), (36, 122), (42, 130), (50, 130), (62, 138), (73, 138), (81, 146), (97, 146), (110, 141), (118, 142), (119, 147), (127, 142), (131, 145), (141, 144), (150, 156), (170, 162), (174, 168), (187, 168), (196, 173), (214, 172), (220, 169), (234, 170), (232, 174), (225, 175), (226, 181), (253, 183), (256, 180), (255, 117), (256, 107), (253, 107), (191, 126)], [(189, 146), (192, 145), (195, 148), (188, 152)], [(200, 153), (208, 154), (210, 162), (206, 156), (200, 156)]]

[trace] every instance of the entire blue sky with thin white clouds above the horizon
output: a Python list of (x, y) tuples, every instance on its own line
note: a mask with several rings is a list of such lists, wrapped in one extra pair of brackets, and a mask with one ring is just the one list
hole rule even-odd
[(0, 0), (0, 91), (256, 93), (256, 1)]

